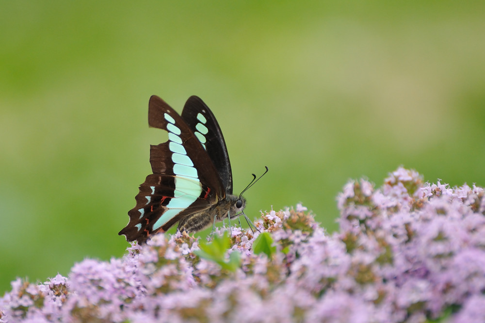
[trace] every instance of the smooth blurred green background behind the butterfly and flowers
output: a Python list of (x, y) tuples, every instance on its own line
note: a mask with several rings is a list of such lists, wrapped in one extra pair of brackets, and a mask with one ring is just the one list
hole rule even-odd
[(485, 185), (485, 1), (1, 1), (0, 295), (118, 231), (150, 172), (148, 98), (216, 115), (247, 214), (330, 231), (349, 178)]

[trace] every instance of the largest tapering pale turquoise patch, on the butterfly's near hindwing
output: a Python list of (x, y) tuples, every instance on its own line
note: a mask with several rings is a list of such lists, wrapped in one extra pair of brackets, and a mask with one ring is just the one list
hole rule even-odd
[(153, 224), (153, 230), (159, 229), (182, 210), (187, 209), (202, 193), (202, 185), (197, 178), (175, 177), (174, 197), (166, 205), (160, 219)]

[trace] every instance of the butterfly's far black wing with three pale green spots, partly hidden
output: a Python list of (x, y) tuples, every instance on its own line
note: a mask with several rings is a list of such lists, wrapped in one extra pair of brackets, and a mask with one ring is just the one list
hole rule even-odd
[(232, 194), (231, 163), (224, 136), (214, 114), (200, 97), (192, 96), (185, 102), (181, 116), (207, 150), (226, 193)]

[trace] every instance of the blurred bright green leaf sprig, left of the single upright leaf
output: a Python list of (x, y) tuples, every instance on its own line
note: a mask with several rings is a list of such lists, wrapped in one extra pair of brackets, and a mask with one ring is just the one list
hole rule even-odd
[(219, 264), (222, 268), (235, 272), (241, 265), (241, 254), (237, 251), (231, 252), (229, 259), (226, 259), (226, 253), (231, 245), (231, 239), (227, 232), (224, 235), (215, 235), (212, 242), (199, 242), (200, 250), (194, 253), (200, 258), (204, 258)]

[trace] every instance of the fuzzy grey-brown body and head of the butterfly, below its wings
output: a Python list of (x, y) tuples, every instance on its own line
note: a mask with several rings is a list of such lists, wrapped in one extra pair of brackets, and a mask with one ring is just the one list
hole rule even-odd
[(235, 219), (242, 214), (246, 207), (246, 199), (233, 194), (227, 194), (225, 199), (216, 204), (196, 212), (183, 220), (178, 225), (179, 231), (196, 232), (210, 226), (214, 222), (220, 222), (227, 218)]

